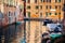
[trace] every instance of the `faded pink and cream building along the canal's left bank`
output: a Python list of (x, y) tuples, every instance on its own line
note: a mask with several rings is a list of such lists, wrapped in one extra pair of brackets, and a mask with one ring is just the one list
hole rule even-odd
[[(18, 11), (17, 6), (18, 5)], [(0, 0), (0, 11), (3, 13), (2, 24), (8, 25), (23, 20), (24, 4), (21, 0)], [(17, 15), (17, 16), (16, 16)]]

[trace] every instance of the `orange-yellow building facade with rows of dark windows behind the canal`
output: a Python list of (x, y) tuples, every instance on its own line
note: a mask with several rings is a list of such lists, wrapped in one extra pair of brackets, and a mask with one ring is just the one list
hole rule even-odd
[(64, 0), (26, 0), (26, 17), (63, 19)]

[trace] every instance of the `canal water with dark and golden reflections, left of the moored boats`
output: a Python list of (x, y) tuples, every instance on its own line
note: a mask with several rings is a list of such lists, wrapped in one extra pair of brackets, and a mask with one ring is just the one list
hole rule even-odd
[(0, 27), (0, 43), (40, 43), (46, 32), (43, 22), (26, 20)]

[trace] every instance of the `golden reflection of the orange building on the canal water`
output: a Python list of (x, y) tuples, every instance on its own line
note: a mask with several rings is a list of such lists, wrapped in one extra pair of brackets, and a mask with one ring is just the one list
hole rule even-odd
[(26, 22), (26, 43), (41, 43), (40, 22)]

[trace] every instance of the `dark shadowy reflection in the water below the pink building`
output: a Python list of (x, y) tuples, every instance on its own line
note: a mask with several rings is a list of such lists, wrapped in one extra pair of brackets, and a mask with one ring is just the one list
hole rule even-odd
[(24, 24), (13, 24), (0, 27), (0, 43), (12, 43), (24, 34)]

